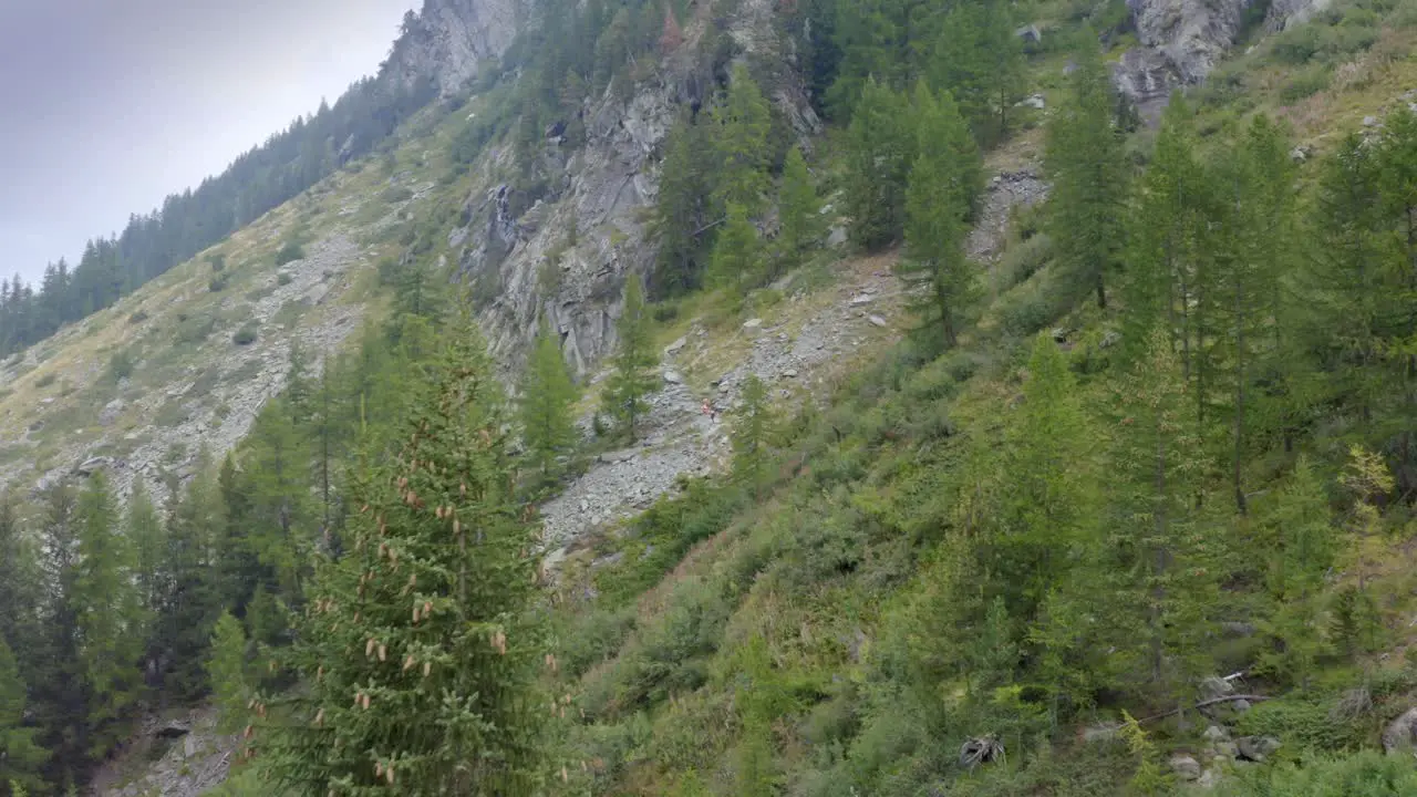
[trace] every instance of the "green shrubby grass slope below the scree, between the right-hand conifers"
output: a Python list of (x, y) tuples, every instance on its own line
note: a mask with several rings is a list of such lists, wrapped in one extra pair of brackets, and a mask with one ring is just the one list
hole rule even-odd
[[(1332, 57), (1322, 67), (1328, 88), (1302, 99), (1284, 92), (1299, 69), (1275, 57), (1272, 40), (1261, 41), (1223, 68), (1219, 79), (1238, 79), (1237, 87), (1202, 89), (1202, 129), (1263, 111), (1288, 119), (1295, 143), (1322, 152), (1417, 85), (1414, 41), (1411, 28), (1384, 27), (1372, 50)], [(1051, 95), (1061, 58), (1036, 67), (1036, 85)], [(1142, 146), (1146, 138), (1139, 136)], [(1016, 165), (1019, 149), (1036, 143), (1024, 142), (996, 153), (995, 166)], [(966, 452), (951, 433), (972, 428), (985, 440), (998, 433), (1020, 394), (1020, 340), (1040, 328), (1076, 330), (1067, 346), (1084, 373), (1105, 364), (1100, 343), (1115, 316), (1054, 306), (1047, 268), (1013, 284), (1040, 245), (1037, 237), (1010, 241), (990, 278), (999, 298), (959, 352), (921, 364), (897, 346), (840, 384), (825, 418), (798, 427), (806, 431), (784, 451), (767, 498), (694, 492), (572, 559), (558, 596), (565, 658), (558, 688), (585, 718), (568, 746), (577, 790), (734, 793), (757, 749), (772, 752), (768, 771), (778, 793), (914, 794), (928, 780), (915, 767), (949, 759), (961, 736), (986, 730), (932, 737), (939, 729), (922, 729), (913, 716), (918, 696), (894, 693), (903, 681), (893, 669), (910, 644), (901, 617), (928, 598), (930, 563), (941, 554), (934, 543), (955, 511), (942, 496)], [(1081, 390), (1104, 417), (1107, 386), (1084, 376)], [(1258, 492), (1274, 486), (1272, 462), (1250, 469)], [(1374, 589), (1396, 623), (1417, 610), (1411, 552), (1401, 542), (1377, 546), (1374, 559), (1384, 564)], [(648, 589), (639, 593), (640, 586)], [(1376, 743), (1380, 718), (1417, 693), (1403, 672), (1417, 631), (1393, 623), (1393, 648), (1363, 661), (1365, 672), (1331, 665), (1315, 698), (1277, 701), (1240, 720), (1240, 730), (1280, 733), (1292, 754)], [(1240, 642), (1221, 651), (1219, 664), (1244, 665), (1250, 652)], [(1356, 684), (1367, 685), (1374, 710), (1333, 720), (1326, 695)], [(761, 739), (745, 719), (757, 701), (775, 712)], [(1197, 749), (1195, 728), (1153, 730), (1163, 750)], [(843, 760), (847, 747), (852, 759)], [(1068, 743), (1054, 753), (1041, 771), (999, 770), (959, 786), (978, 794), (1114, 793), (1135, 766), (1112, 746)], [(852, 780), (864, 791), (847, 791)]]

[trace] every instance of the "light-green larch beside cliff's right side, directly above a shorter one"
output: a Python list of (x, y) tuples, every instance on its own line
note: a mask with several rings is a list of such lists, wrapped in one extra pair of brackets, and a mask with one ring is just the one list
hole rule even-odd
[(755, 216), (768, 189), (772, 116), (745, 65), (734, 65), (727, 96), (710, 112), (710, 125), (717, 155), (714, 199), (721, 207), (737, 204)]

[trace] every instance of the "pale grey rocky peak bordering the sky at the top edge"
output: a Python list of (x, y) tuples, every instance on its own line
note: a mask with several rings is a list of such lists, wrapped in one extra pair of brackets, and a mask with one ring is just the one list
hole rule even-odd
[(485, 61), (507, 51), (524, 13), (523, 0), (424, 0), (383, 77), (402, 87), (432, 78), (442, 96), (456, 94)]

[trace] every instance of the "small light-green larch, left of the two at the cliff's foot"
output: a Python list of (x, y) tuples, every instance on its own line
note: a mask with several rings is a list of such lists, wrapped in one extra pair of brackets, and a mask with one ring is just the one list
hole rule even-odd
[(521, 377), (519, 401), (521, 437), (543, 481), (555, 475), (557, 458), (575, 445), (575, 424), (571, 420), (574, 401), (575, 383), (571, 381), (550, 323), (543, 321)]

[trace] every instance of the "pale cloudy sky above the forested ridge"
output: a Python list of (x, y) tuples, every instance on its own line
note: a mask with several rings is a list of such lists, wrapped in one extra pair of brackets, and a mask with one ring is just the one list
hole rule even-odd
[(0, 0), (0, 275), (130, 213), (373, 74), (421, 0)]

